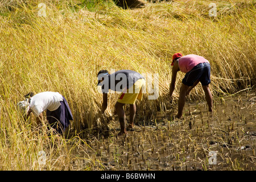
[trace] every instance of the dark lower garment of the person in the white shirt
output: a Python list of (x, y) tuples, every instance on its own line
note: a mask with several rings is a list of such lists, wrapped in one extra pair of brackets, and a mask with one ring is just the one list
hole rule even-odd
[(46, 110), (46, 118), (49, 125), (57, 131), (59, 134), (63, 134), (65, 129), (69, 125), (69, 120), (73, 120), (73, 115), (68, 106), (67, 100), (63, 97), (63, 101), (60, 101), (58, 109), (49, 111)]

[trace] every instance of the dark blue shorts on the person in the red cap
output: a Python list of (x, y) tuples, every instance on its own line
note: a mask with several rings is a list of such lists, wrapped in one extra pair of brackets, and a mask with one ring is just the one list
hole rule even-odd
[(210, 64), (197, 64), (191, 71), (187, 72), (182, 82), (184, 85), (192, 86), (196, 80), (199, 80), (203, 86), (210, 84)]

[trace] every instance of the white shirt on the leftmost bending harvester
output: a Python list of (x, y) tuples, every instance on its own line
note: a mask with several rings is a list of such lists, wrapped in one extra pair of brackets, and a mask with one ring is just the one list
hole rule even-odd
[(35, 94), (30, 100), (30, 109), (39, 116), (43, 111), (53, 111), (59, 108), (63, 96), (59, 92), (41, 92)]

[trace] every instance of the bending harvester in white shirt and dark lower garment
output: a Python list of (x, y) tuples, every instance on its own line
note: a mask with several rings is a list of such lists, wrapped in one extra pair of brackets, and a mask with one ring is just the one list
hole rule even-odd
[(43, 111), (46, 111), (49, 126), (59, 134), (63, 134), (69, 120), (73, 120), (67, 100), (58, 92), (41, 92), (35, 96), (30, 92), (25, 98), (25, 101), (19, 102), (19, 109), (26, 113), (27, 118), (34, 113), (38, 125), (40, 121), (43, 122)]

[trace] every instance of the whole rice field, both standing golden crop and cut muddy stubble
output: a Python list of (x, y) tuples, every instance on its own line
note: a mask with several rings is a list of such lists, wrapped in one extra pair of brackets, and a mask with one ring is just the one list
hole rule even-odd
[[(255, 2), (145, 2), (123, 10), (103, 0), (1, 0), (0, 170), (254, 171)], [(210, 3), (216, 16), (209, 16)], [(212, 113), (199, 84), (184, 119), (173, 118), (184, 76), (178, 73), (171, 102), (175, 52), (209, 60)], [(101, 69), (159, 75), (158, 99), (147, 93), (137, 102), (135, 131), (126, 137), (117, 137), (118, 94), (109, 94), (100, 114)], [(16, 104), (31, 91), (67, 99), (74, 121), (65, 136), (36, 129), (35, 117), (23, 121)], [(209, 164), (210, 151), (216, 164)]]

